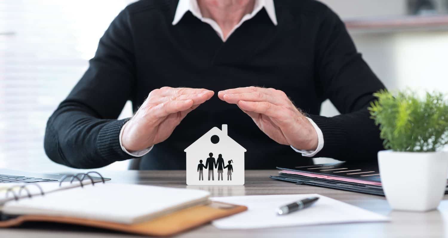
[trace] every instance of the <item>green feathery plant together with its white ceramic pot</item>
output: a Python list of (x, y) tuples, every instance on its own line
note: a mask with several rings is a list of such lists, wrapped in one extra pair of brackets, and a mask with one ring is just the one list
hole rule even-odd
[(429, 211), (437, 208), (447, 186), (448, 143), (446, 95), (388, 91), (368, 108), (379, 125), (385, 151), (378, 152), (384, 194), (392, 209)]

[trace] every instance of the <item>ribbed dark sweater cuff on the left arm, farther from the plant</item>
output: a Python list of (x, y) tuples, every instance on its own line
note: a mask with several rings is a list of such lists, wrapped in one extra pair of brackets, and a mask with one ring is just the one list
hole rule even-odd
[(120, 161), (137, 158), (136, 156), (128, 155), (121, 149), (120, 145), (121, 127), (123, 127), (128, 120), (129, 118), (109, 121), (99, 131), (96, 147), (98, 148), (99, 154), (105, 160)]

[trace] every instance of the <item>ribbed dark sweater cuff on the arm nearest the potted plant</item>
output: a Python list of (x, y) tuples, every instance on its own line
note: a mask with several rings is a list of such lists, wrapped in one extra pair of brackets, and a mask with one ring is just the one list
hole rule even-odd
[(322, 130), (325, 146), (314, 157), (340, 158), (347, 147), (347, 130), (345, 125), (336, 117), (307, 115)]

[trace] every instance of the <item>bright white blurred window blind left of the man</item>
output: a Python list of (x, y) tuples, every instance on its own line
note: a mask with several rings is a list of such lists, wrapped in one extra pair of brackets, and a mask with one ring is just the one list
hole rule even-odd
[[(85, 72), (104, 30), (130, 2), (0, 1), (0, 167), (60, 170), (43, 150), (47, 119)], [(121, 117), (131, 113), (128, 103)]]

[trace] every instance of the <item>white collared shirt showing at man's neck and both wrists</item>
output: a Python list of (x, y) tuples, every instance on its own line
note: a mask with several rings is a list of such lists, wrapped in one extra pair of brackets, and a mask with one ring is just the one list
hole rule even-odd
[[(248, 13), (248, 14), (244, 15), (241, 18), (241, 21), (238, 22), (238, 24), (235, 27), (233, 27), (233, 29), (229, 32), (229, 34), (227, 35), (227, 38), (224, 38), (223, 31), (221, 30), (218, 23), (216, 23), (213, 19), (202, 17), (202, 13), (201, 13), (201, 10), (199, 9), (197, 0), (179, 0), (179, 4), (177, 4), (177, 9), (176, 9), (176, 13), (174, 14), (174, 19), (172, 21), (172, 25), (176, 25), (179, 21), (181, 21), (182, 17), (185, 15), (185, 13), (190, 11), (199, 20), (209, 24), (213, 28), (213, 30), (215, 30), (216, 33), (220, 36), (222, 41), (225, 42), (226, 39), (228, 39), (228, 37), (230, 35), (232, 35), (232, 33), (235, 30), (237, 30), (237, 28), (239, 26), (241, 26), (241, 24), (243, 24), (243, 22), (246, 22), (247, 20), (254, 17), (263, 8), (266, 10), (267, 15), (271, 19), (272, 23), (275, 26), (277, 26), (277, 16), (276, 16), (276, 10), (274, 7), (274, 0), (255, 0), (254, 10), (252, 11), (252, 13)], [(311, 125), (313, 125), (314, 130), (316, 130), (317, 137), (318, 137), (317, 148), (315, 151), (297, 150), (293, 146), (291, 146), (291, 148), (293, 148), (294, 151), (302, 153), (302, 156), (312, 157), (315, 154), (317, 154), (319, 151), (321, 151), (323, 148), (323, 134), (322, 134), (322, 130), (320, 130), (319, 126), (317, 126), (313, 120), (311, 120), (309, 117), (306, 117), (306, 118), (310, 121)], [(125, 125), (121, 128), (119, 140), (120, 140), (121, 149), (123, 151), (125, 151), (127, 154), (129, 154), (131, 156), (141, 157), (141, 156), (146, 155), (149, 151), (151, 151), (152, 147), (154, 147), (154, 146), (151, 146), (147, 149), (144, 149), (141, 151), (134, 151), (134, 152), (130, 153), (121, 144), (121, 135), (123, 134), (124, 128), (125, 128)]]

